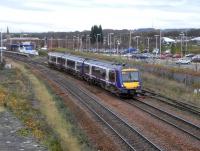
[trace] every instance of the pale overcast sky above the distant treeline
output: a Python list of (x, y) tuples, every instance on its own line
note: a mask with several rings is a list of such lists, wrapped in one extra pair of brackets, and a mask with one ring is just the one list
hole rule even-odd
[(0, 0), (10, 32), (200, 28), (200, 0)]

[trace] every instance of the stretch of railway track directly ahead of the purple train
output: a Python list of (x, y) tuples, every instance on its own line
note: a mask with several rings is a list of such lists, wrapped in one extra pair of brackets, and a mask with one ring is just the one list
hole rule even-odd
[(151, 116), (164, 121), (165, 123), (179, 129), (180, 131), (190, 135), (191, 137), (200, 141), (200, 127), (193, 123), (186, 121), (178, 116), (168, 113), (164, 110), (156, 108), (140, 99), (123, 100), (127, 103), (139, 108), (140, 110), (150, 114)]

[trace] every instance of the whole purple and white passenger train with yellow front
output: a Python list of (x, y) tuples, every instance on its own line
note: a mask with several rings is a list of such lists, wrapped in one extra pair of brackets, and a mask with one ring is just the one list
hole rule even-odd
[(132, 96), (141, 90), (138, 69), (126, 65), (57, 52), (48, 53), (48, 64), (116, 95)]

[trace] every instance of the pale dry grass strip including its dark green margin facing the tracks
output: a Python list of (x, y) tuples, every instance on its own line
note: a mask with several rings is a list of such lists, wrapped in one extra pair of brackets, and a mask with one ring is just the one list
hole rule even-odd
[(19, 68), (23, 74), (28, 75), (34, 93), (37, 94), (35, 96), (40, 101), (40, 110), (45, 115), (48, 124), (58, 134), (63, 150), (92, 150), (86, 135), (75, 124), (74, 116), (65, 107), (62, 99), (52, 95), (54, 93), (50, 87), (47, 87), (26, 68), (23, 66)]

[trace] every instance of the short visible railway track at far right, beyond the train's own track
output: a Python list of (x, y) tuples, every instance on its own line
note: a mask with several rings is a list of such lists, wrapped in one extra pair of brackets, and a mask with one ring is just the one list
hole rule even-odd
[(192, 104), (174, 100), (172, 98), (163, 96), (161, 94), (157, 94), (157, 93), (149, 91), (149, 90), (142, 90), (142, 93), (140, 93), (140, 94), (150, 97), (152, 99), (156, 99), (157, 101), (168, 104), (170, 106), (181, 109), (183, 111), (190, 112), (190, 113), (193, 113), (194, 115), (200, 116), (200, 108), (197, 106), (194, 106)]

